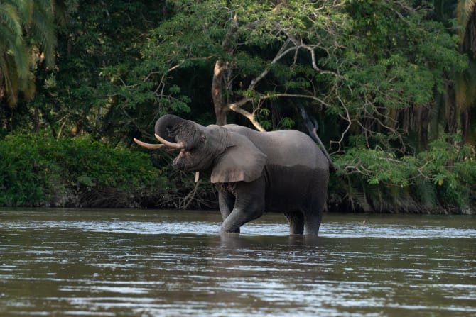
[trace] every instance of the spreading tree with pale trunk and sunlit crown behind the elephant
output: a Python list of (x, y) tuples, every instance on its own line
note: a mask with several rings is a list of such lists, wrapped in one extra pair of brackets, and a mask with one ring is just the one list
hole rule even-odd
[[(218, 124), (228, 111), (246, 116), (259, 130), (264, 103), (279, 98), (305, 98), (326, 105), (318, 77), (338, 76), (320, 69), (318, 59), (336, 50), (332, 40), (345, 28), (345, 13), (337, 1), (172, 1), (175, 14), (151, 32), (144, 52), (146, 79), (157, 83), (156, 99), (172, 96), (173, 72), (210, 67), (211, 94)], [(187, 30), (183, 32), (183, 30)], [(151, 62), (153, 60), (154, 62)], [(145, 64), (145, 63), (144, 63)], [(144, 69), (146, 69), (144, 67)], [(203, 69), (203, 68), (200, 68)], [(172, 79), (172, 80), (171, 80)], [(175, 91), (180, 93), (180, 89)], [(263, 126), (263, 124), (265, 126)]]

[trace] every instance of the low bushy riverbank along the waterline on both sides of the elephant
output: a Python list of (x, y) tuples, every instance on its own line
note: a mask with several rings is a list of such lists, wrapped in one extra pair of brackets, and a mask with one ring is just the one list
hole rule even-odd
[[(112, 148), (92, 138), (11, 135), (0, 141), (0, 206), (60, 208), (216, 209), (206, 179), (171, 168), (168, 152)], [(357, 213), (471, 214), (476, 168), (453, 165), (444, 181), (406, 186), (371, 184), (346, 173), (345, 160), (331, 174), (328, 211)], [(443, 173), (440, 173), (443, 174)], [(450, 179), (453, 178), (453, 179)], [(455, 185), (456, 184), (456, 185)]]

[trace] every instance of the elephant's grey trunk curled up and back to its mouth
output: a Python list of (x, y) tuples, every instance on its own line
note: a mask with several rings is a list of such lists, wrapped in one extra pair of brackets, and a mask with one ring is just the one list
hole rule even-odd
[[(195, 122), (185, 120), (173, 114), (167, 114), (158, 118), (155, 132), (168, 143), (175, 143), (187, 150), (194, 148), (198, 142), (200, 125)], [(169, 147), (174, 148), (168, 144)]]

